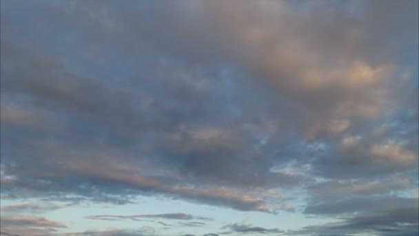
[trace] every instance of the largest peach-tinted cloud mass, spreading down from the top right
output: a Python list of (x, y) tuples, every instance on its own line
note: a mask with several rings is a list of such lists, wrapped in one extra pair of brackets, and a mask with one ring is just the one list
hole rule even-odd
[[(348, 3), (348, 5), (350, 4)], [(325, 55), (323, 59), (331, 61), (332, 64), (333, 61), (343, 59), (345, 61), (343, 71), (352, 70), (350, 68), (351, 63), (357, 58), (356, 54), (351, 54), (351, 51), (357, 50), (356, 52), (360, 52), (359, 54), (362, 55), (364, 50), (362, 42), (365, 42), (366, 39), (367, 41), (372, 42), (374, 40), (376, 42), (377, 35), (371, 34), (371, 32), (374, 32), (374, 28), (378, 25), (377, 23), (369, 24), (369, 21), (373, 21), (373, 19), (369, 18), (370, 12), (371, 14), (380, 12), (379, 14), (395, 16), (394, 18), (389, 18), (391, 23), (386, 24), (382, 22), (382, 25), (400, 28), (398, 23), (402, 22), (405, 23), (403, 26), (414, 27), (410, 20), (414, 19), (416, 12), (409, 10), (408, 4), (405, 4), (402, 8), (391, 8), (387, 7), (387, 5), (391, 4), (385, 4), (385, 8), (380, 7), (378, 9), (376, 5), (381, 6), (378, 2), (372, 2), (371, 6), (368, 5), (363, 9), (365, 10), (364, 14), (357, 18), (351, 16), (352, 12), (346, 12), (345, 10), (338, 10), (340, 14), (330, 13), (328, 17), (319, 15), (315, 9), (309, 9), (304, 12), (308, 17), (298, 14), (298, 12), (293, 12), (295, 14), (293, 15), (287, 12), (289, 10), (287, 3), (264, 4), (246, 2), (238, 5), (223, 1), (213, 1), (212, 3), (203, 2), (189, 6), (195, 12), (202, 12), (203, 14), (190, 13), (194, 11), (188, 12), (178, 6), (168, 10), (168, 6), (151, 4), (151, 6), (147, 6), (148, 8), (145, 9), (151, 10), (151, 12), (155, 10), (156, 16), (160, 17), (159, 19), (154, 19), (150, 13), (146, 14), (151, 19), (154, 19), (148, 21), (149, 24), (139, 23), (135, 25), (134, 22), (138, 22), (135, 20), (136, 14), (127, 14), (125, 19), (120, 19), (116, 15), (114, 19), (116, 21), (121, 20), (126, 25), (131, 23), (132, 27), (139, 30), (139, 32), (144, 30), (147, 33), (139, 33), (140, 40), (142, 39), (141, 36), (147, 35), (145, 37), (146, 41), (152, 42), (156, 48), (168, 51), (169, 54), (178, 57), (187, 55), (186, 57), (190, 61), (218, 57), (221, 60), (239, 63), (245, 70), (249, 70), (256, 75), (255, 77), (258, 79), (265, 80), (279, 88), (280, 92), (289, 97), (291, 101), (296, 100), (297, 104), (303, 104), (304, 109), (307, 111), (305, 115), (314, 119), (314, 121), (306, 120), (304, 122), (307, 126), (307, 135), (311, 135), (311, 132), (315, 135), (316, 132), (327, 130), (328, 124), (322, 124), (321, 119), (326, 118), (327, 121), (333, 121), (336, 115), (351, 116), (361, 114), (362, 116), (364, 112), (374, 112), (374, 110), (380, 110), (378, 107), (385, 105), (381, 104), (385, 99), (376, 99), (380, 95), (378, 93), (378, 88), (381, 88), (380, 84), (373, 88), (366, 86), (367, 88), (362, 90), (362, 92), (356, 92), (358, 88), (350, 89), (353, 82), (351, 78), (347, 78), (345, 73), (343, 75), (339, 73), (334, 75), (334, 70), (325, 68), (321, 63), (322, 60), (318, 58), (323, 57), (319, 55)], [(139, 7), (136, 10), (141, 9)], [(409, 14), (400, 13), (404, 10), (409, 10)], [(181, 19), (177, 17), (180, 15), (191, 17), (192, 19), (196, 18), (197, 20), (188, 21), (193, 22), (188, 24), (180, 23)], [(327, 20), (329, 17), (334, 19), (333, 25)], [(309, 22), (317, 22), (315, 30), (307, 30), (305, 28), (305, 23)], [(278, 26), (278, 24), (282, 27)], [(167, 32), (163, 30), (166, 27), (174, 29), (172, 31), (174, 33), (167, 35)], [(202, 32), (199, 30), (201, 28), (210, 29), (209, 31), (212, 34), (200, 37), (198, 32)], [(291, 29), (291, 32), (285, 30), (288, 28)], [(317, 32), (323, 32), (323, 34), (318, 34)], [(323, 36), (319, 37), (319, 35), (328, 35), (328, 37), (323, 38)], [(374, 35), (374, 38), (371, 37), (372, 35)], [(190, 42), (192, 38), (200, 40)], [(384, 35), (383, 38), (385, 38)], [(330, 39), (335, 40), (331, 41)], [(232, 41), (234, 41), (234, 45), (231, 45)], [(412, 42), (409, 42), (413, 46)], [(289, 55), (290, 52), (286, 50), (287, 46), (289, 46), (288, 44), (291, 44), (292, 48), (297, 52), (301, 50), (302, 53), (294, 53), (294, 56)], [(210, 47), (212, 45), (218, 46), (219, 50), (212, 50)], [(308, 48), (307, 46), (312, 47)], [(272, 48), (278, 50), (272, 50)], [(321, 52), (316, 50), (316, 48)], [(335, 50), (331, 50), (331, 48), (335, 48)], [(378, 51), (374, 50), (374, 52)], [(213, 55), (214, 52), (216, 55)], [(299, 54), (304, 56), (298, 57), (297, 55)], [(314, 57), (311, 60), (314, 62), (310, 63), (308, 60), (311, 57)], [(368, 65), (370, 60), (366, 61)], [(316, 67), (320, 69), (316, 69)], [(290, 68), (299, 68), (300, 70), (292, 70)], [(358, 69), (363, 70), (362, 68), (366, 70), (371, 69), (369, 66), (363, 67), (362, 65)], [(357, 69), (355, 68), (355, 70)], [(345, 79), (338, 81), (331, 78), (331, 83), (327, 83), (325, 87), (320, 85), (319, 89), (310, 91), (311, 88), (305, 86), (305, 80), (310, 82), (311, 80), (315, 81), (316, 78), (305, 78), (304, 72), (314, 75), (316, 73), (323, 74), (322, 76), (324, 77), (345, 77)], [(355, 81), (354, 83), (358, 82)], [(348, 84), (349, 86), (347, 86)], [(374, 88), (377, 88), (377, 90)], [(357, 96), (354, 96), (354, 94)], [(375, 97), (372, 97), (372, 95)], [(353, 109), (340, 114), (339, 110), (343, 106), (350, 106)]]

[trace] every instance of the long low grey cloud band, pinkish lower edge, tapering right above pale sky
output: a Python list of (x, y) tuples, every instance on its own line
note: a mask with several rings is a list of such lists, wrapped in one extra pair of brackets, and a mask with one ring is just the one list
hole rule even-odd
[[(83, 166), (86, 165), (84, 164)], [(109, 197), (104, 193), (121, 194), (121, 192), (119, 192), (121, 190), (130, 195), (138, 193), (138, 191), (141, 191), (145, 194), (163, 193), (167, 197), (180, 197), (182, 199), (187, 199), (197, 203), (226, 206), (237, 210), (259, 210), (269, 212), (269, 209), (265, 207), (266, 203), (263, 201), (263, 199), (249, 197), (246, 195), (243, 196), (240, 195), (240, 191), (234, 192), (232, 189), (203, 189), (196, 187), (191, 188), (183, 186), (170, 186), (164, 182), (159, 181), (158, 179), (154, 179), (153, 177), (127, 175), (125, 173), (108, 175), (106, 173), (109, 172), (106, 169), (96, 169), (92, 172), (91, 170), (81, 168), (81, 166), (72, 166), (72, 168), (64, 168), (64, 170), (66, 174), (63, 176), (45, 178), (43, 176), (31, 175), (32, 177), (37, 176), (36, 180), (30, 181), (31, 183), (28, 183), (23, 178), (19, 178), (3, 185), (10, 189), (18, 188), (20, 190), (28, 191), (39, 191), (48, 188), (50, 190), (56, 190), (57, 193), (78, 193), (87, 197), (93, 197), (92, 200), (97, 199), (115, 203), (118, 203), (115, 201), (116, 199), (109, 199)], [(78, 177), (72, 177), (70, 173)], [(89, 181), (84, 181), (83, 184), (81, 184), (79, 181), (80, 177), (85, 177), (89, 179)], [(66, 185), (63, 186), (61, 184), (57, 184), (57, 180), (64, 181)], [(112, 187), (112, 184), (117, 185), (116, 187)], [(96, 193), (96, 191), (92, 191), (94, 186), (102, 186), (101, 192)], [(125, 201), (122, 203), (125, 203)]]

